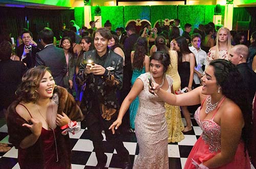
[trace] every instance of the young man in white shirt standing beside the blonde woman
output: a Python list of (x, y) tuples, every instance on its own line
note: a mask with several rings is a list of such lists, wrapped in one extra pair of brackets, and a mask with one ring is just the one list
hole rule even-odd
[(194, 69), (194, 81), (196, 83), (195, 87), (200, 86), (200, 80), (203, 77), (204, 66), (206, 63), (206, 52), (201, 50), (201, 35), (196, 33), (191, 36), (191, 44), (189, 50), (194, 53), (197, 61), (197, 66)]

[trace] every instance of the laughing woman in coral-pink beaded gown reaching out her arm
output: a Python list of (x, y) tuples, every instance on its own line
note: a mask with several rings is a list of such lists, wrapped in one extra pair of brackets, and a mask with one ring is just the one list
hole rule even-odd
[(170, 105), (201, 103), (195, 119), (203, 133), (184, 168), (250, 168), (246, 147), (251, 131), (251, 107), (241, 75), (231, 62), (217, 59), (210, 62), (202, 84), (179, 95), (165, 92), (158, 84), (150, 90)]

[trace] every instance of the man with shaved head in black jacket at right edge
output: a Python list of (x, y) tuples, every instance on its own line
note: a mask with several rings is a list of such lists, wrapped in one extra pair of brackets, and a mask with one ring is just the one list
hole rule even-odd
[(248, 54), (248, 47), (246, 45), (239, 44), (232, 47), (229, 54), (229, 60), (237, 66), (238, 71), (243, 76), (245, 91), (249, 91), (249, 102), (252, 103), (256, 91), (256, 73), (254, 73), (246, 63)]

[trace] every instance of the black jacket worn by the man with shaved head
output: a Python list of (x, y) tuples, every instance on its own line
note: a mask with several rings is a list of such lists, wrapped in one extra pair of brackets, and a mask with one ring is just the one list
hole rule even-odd
[(245, 87), (247, 88), (245, 91), (249, 91), (249, 102), (252, 104), (256, 91), (256, 73), (249, 69), (247, 63), (240, 63), (237, 68), (244, 79)]

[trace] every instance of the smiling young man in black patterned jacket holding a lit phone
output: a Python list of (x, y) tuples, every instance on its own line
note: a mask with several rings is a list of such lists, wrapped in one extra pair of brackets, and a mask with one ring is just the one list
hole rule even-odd
[(99, 28), (94, 38), (95, 50), (84, 53), (77, 75), (80, 85), (86, 83), (80, 108), (86, 115), (90, 140), (93, 141), (98, 160), (96, 168), (103, 168), (107, 161), (102, 144), (102, 130), (105, 131), (106, 141), (116, 149), (123, 168), (128, 168), (129, 152), (124, 148), (118, 131), (112, 134), (109, 130), (117, 119), (119, 103), (116, 92), (122, 87), (123, 78), (123, 59), (108, 49), (110, 39), (110, 30)]

